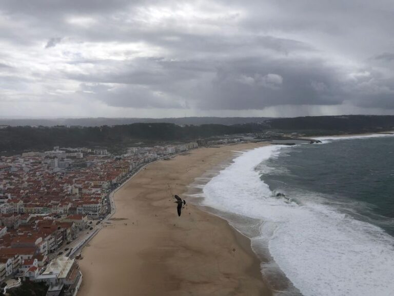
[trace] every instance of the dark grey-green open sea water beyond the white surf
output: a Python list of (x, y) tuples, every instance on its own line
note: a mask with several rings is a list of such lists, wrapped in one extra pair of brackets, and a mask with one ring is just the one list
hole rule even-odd
[[(261, 179), (294, 201), (300, 196), (394, 235), (394, 137), (329, 140), (282, 149)], [(302, 199), (302, 198), (301, 198)]]

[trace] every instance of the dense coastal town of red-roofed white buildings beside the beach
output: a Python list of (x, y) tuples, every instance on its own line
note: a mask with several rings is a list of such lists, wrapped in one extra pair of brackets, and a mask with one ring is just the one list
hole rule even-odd
[[(238, 142), (225, 139), (210, 142)], [(53, 147), (0, 158), (0, 282), (2, 292), (44, 283), (47, 295), (75, 295), (82, 247), (114, 213), (111, 193), (147, 163), (207, 141), (106, 149)]]

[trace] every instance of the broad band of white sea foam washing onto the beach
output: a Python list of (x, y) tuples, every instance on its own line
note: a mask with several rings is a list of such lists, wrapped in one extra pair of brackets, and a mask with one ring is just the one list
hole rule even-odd
[[(255, 167), (283, 146), (243, 153), (204, 187), (203, 204), (261, 220), (254, 241), (305, 296), (390, 296), (394, 239), (380, 228), (334, 208), (273, 197)], [(260, 168), (260, 167), (259, 167)]]

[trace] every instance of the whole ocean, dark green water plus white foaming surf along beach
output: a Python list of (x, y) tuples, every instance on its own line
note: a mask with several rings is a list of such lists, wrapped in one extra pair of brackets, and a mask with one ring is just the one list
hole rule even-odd
[(278, 295), (394, 295), (394, 137), (238, 152), (199, 204), (251, 239)]

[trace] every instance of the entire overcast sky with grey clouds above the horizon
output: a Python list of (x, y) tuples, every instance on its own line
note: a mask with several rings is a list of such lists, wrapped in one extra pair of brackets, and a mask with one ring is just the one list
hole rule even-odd
[(0, 0), (0, 117), (394, 114), (392, 0)]

